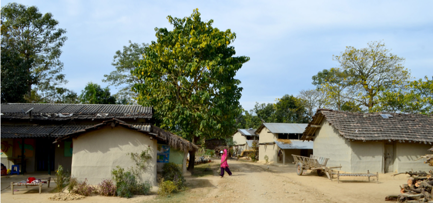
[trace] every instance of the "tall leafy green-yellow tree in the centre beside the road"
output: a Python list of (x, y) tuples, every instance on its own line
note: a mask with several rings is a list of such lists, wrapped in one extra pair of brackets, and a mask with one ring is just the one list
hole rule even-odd
[[(138, 103), (153, 106), (159, 125), (196, 142), (226, 137), (236, 128), (241, 81), (236, 72), (250, 58), (234, 56), (236, 34), (201, 21), (198, 9), (188, 17), (168, 16), (173, 25), (155, 28), (156, 41), (144, 48), (133, 74)], [(194, 153), (188, 169), (193, 170)]]

